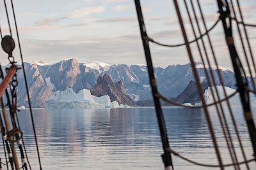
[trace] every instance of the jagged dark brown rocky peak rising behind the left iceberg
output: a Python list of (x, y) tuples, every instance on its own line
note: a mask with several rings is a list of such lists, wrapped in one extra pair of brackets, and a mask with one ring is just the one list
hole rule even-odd
[(126, 94), (122, 81), (114, 83), (108, 74), (99, 76), (95, 87), (90, 89), (90, 91), (93, 96), (100, 97), (108, 95), (112, 102), (117, 101), (119, 104), (136, 106), (131, 97)]

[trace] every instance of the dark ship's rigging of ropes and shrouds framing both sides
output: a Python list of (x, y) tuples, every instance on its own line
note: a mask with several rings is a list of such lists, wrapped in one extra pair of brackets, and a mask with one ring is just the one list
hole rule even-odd
[[(154, 97), (154, 104), (156, 108), (156, 116), (157, 121), (159, 124), (159, 130), (161, 134), (161, 142), (163, 147), (163, 155), (161, 155), (165, 169), (175, 169), (175, 162), (172, 160), (172, 156), (179, 157), (180, 159), (184, 159), (191, 164), (195, 164), (197, 166), (204, 166), (204, 167), (218, 167), (220, 169), (225, 169), (226, 167), (234, 167), (234, 169), (241, 169), (241, 166), (245, 166), (246, 169), (250, 169), (250, 165), (252, 162), (255, 164), (255, 154), (256, 154), (256, 129), (255, 129), (255, 122), (253, 121), (253, 113), (250, 106), (250, 95), (256, 94), (256, 85), (255, 81), (253, 80), (253, 73), (256, 73), (256, 64), (253, 56), (252, 45), (250, 44), (250, 38), (248, 36), (247, 27), (256, 27), (254, 24), (247, 24), (244, 22), (243, 13), (241, 10), (241, 5), (238, 0), (216, 0), (216, 4), (218, 5), (218, 19), (214, 22), (211, 27), (207, 27), (205, 21), (205, 15), (202, 9), (202, 4), (199, 0), (184, 0), (178, 1), (173, 0), (173, 4), (175, 7), (175, 11), (177, 14), (177, 18), (179, 20), (180, 30), (182, 32), (182, 36), (184, 38), (184, 43), (179, 43), (176, 45), (164, 44), (159, 41), (154, 40), (151, 36), (148, 36), (146, 25), (143, 19), (143, 13), (141, 9), (140, 0), (134, 0), (136, 6), (136, 12), (138, 15), (138, 22), (140, 25), (140, 33), (141, 33), (141, 40), (143, 43), (143, 48), (145, 52), (145, 57), (147, 60), (147, 68), (148, 68), (148, 76), (150, 80), (150, 86), (152, 88), (152, 96)], [(29, 111), (31, 115), (31, 122), (33, 125), (33, 132), (35, 137), (36, 143), (36, 151), (38, 157), (38, 166), (42, 169), (42, 164), (40, 160), (40, 153), (38, 148), (38, 142), (36, 138), (36, 131), (35, 131), (35, 123), (33, 119), (33, 112), (31, 109), (31, 101), (29, 97), (29, 89), (28, 89), (28, 82), (26, 80), (26, 71), (24, 68), (24, 60), (22, 57), (22, 50), (20, 45), (19, 39), (19, 31), (17, 27), (15, 11), (13, 8), (13, 1), (10, 0), (12, 4), (12, 17), (15, 24), (15, 35), (17, 36), (17, 44), (19, 47), (19, 55), (22, 61), (21, 67), (18, 66), (15, 57), (13, 56), (13, 50), (15, 49), (15, 41), (14, 41), (14, 34), (13, 28), (10, 24), (10, 13), (6, 6), (6, 0), (4, 0), (4, 8), (6, 11), (6, 17), (8, 20), (8, 28), (9, 28), (9, 35), (4, 36), (3, 32), (1, 31), (0, 26), (0, 33), (1, 33), (1, 46), (4, 52), (8, 55), (8, 60), (10, 62), (9, 66), (6, 68), (6, 74), (4, 75), (4, 71), (2, 67), (0, 67), (1, 73), (1, 85), (0, 85), (0, 96), (1, 96), (1, 117), (0, 117), (0, 128), (1, 128), (1, 135), (2, 141), (4, 146), (4, 156), (5, 156), (5, 163), (0, 159), (0, 169), (2, 166), (6, 166), (7, 169), (31, 169), (29, 164), (28, 155), (26, 152), (26, 146), (23, 140), (23, 132), (20, 129), (19, 124), (19, 115), (17, 114), (19, 110), (17, 109), (17, 86), (19, 82), (17, 81), (17, 70), (22, 69), (24, 74), (24, 81), (25, 87), (28, 97), (28, 104), (29, 104)], [(188, 39), (188, 31), (184, 25), (184, 17), (182, 17), (181, 13), (181, 6), (180, 3), (183, 3), (184, 11), (186, 11), (186, 15), (189, 18), (189, 25), (191, 26), (191, 30), (193, 32), (194, 39)], [(235, 6), (237, 5), (237, 9)], [(220, 66), (219, 61), (216, 57), (216, 53), (214, 50), (214, 43), (212, 42), (212, 38), (210, 32), (216, 27), (216, 25), (222, 24), (226, 45), (228, 48), (228, 52), (230, 54), (230, 59), (232, 60), (232, 66), (234, 67), (234, 73), (236, 75), (237, 81), (237, 90), (236, 92), (227, 95), (226, 89), (224, 87), (223, 78), (221, 76), (221, 71), (218, 66)], [(237, 53), (236, 42), (234, 40), (233, 35), (233, 27), (232, 25), (236, 25), (239, 41), (241, 41), (243, 55), (239, 55)], [(198, 36), (199, 35), (199, 36)], [(244, 36), (243, 36), (244, 35)], [(245, 40), (244, 40), (245, 39)], [(175, 48), (177, 46), (186, 46), (186, 50), (188, 52), (188, 57), (191, 63), (191, 69), (195, 76), (196, 87), (198, 89), (198, 94), (202, 101), (202, 106), (185, 106), (180, 103), (176, 103), (165, 97), (163, 94), (160, 94), (157, 89), (157, 80), (154, 75), (154, 66), (152, 64), (152, 55), (150, 53), (150, 43), (156, 43), (157, 45), (166, 46)], [(210, 87), (210, 90), (213, 94), (214, 103), (207, 104), (204, 99), (204, 90), (202, 89), (202, 84), (200, 83), (200, 77), (198, 76), (198, 72), (196, 71), (195, 66), (195, 54), (191, 50), (191, 44), (196, 44), (197, 52), (202, 60), (202, 64), (204, 66), (205, 77), (207, 80), (207, 85)], [(244, 57), (245, 62), (242, 63), (241, 59)], [(212, 62), (213, 61), (213, 62)], [(209, 66), (209, 71), (207, 71), (207, 67)], [(211, 66), (215, 65), (217, 67), (218, 75), (214, 74), (212, 71)], [(248, 68), (248, 73), (246, 73), (244, 67)], [(225, 98), (221, 99), (220, 92), (216, 90), (214, 93), (213, 88), (218, 86), (215, 80), (220, 81), (220, 85), (223, 87), (223, 92), (225, 94)], [(234, 97), (236, 94), (239, 94), (241, 99), (241, 106), (243, 106), (243, 116), (248, 127), (248, 132), (250, 134), (250, 140), (252, 144), (253, 155), (248, 157), (244, 150), (243, 146), (243, 139), (239, 134), (239, 129), (237, 127), (236, 118), (234, 117), (234, 109), (232, 108), (229, 99)], [(6, 104), (4, 104), (3, 98), (6, 98)], [(207, 164), (207, 162), (196, 162), (194, 160), (188, 159), (182, 156), (179, 152), (172, 149), (172, 143), (168, 140), (168, 132), (166, 129), (166, 124), (164, 120), (164, 114), (161, 107), (161, 100), (166, 101), (167, 103), (182, 106), (182, 107), (189, 107), (189, 108), (202, 108), (205, 113), (205, 118), (207, 120), (207, 125), (209, 128), (209, 132), (211, 134), (212, 144), (214, 145), (214, 150), (216, 153), (216, 159), (218, 160), (218, 164)], [(227, 106), (228, 110), (224, 109), (224, 104)], [(6, 106), (8, 106), (9, 110), (6, 110)], [(225, 136), (225, 142), (227, 144), (228, 153), (230, 155), (230, 159), (232, 160), (231, 163), (226, 163), (225, 160), (221, 157), (221, 148), (218, 143), (218, 139), (216, 138), (215, 131), (212, 120), (211, 120), (211, 113), (209, 111), (209, 106), (212, 106), (216, 109), (216, 113), (218, 113), (218, 120), (221, 125), (221, 131), (223, 136)], [(10, 112), (8, 114), (8, 112)], [(9, 118), (10, 115), (10, 118)], [(228, 124), (227, 115), (230, 115), (232, 124)], [(9, 122), (11, 120), (11, 122)], [(230, 129), (235, 129), (236, 136), (232, 136), (230, 133)], [(236, 148), (234, 147), (234, 143), (239, 143), (239, 148), (241, 149), (241, 157), (243, 160), (239, 160), (238, 153)], [(20, 160), (18, 158), (16, 149), (19, 149), (20, 152)], [(20, 166), (21, 162), (21, 166)]]

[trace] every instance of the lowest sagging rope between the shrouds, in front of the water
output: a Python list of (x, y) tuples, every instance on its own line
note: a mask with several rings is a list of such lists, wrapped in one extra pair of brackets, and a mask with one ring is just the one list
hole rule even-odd
[[(174, 150), (172, 150), (171, 148), (166, 148), (166, 150), (170, 153), (173, 153), (173, 155), (179, 157), (180, 159), (186, 160), (192, 164), (195, 164), (197, 166), (205, 166), (205, 167), (220, 167), (220, 165), (212, 165), (212, 164), (203, 164), (203, 163), (199, 163), (199, 162), (195, 162), (194, 160), (188, 159), (186, 157), (183, 157), (182, 155), (180, 155), (179, 153), (175, 152)], [(223, 167), (228, 167), (228, 166), (234, 166), (234, 165), (241, 165), (241, 164), (248, 164), (249, 162), (254, 161), (255, 159), (250, 159), (250, 160), (246, 160), (243, 162), (237, 162), (237, 164), (224, 164)]]

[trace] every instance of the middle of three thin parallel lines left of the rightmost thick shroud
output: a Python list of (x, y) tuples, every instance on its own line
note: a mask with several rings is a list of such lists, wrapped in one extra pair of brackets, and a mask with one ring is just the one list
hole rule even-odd
[[(195, 17), (195, 22), (196, 22), (196, 26), (197, 26), (198, 32), (201, 35), (202, 31), (201, 31), (201, 28), (200, 28), (200, 25), (199, 25), (199, 22), (198, 22), (198, 17), (196, 16), (196, 11), (195, 11), (195, 6), (193, 4), (193, 1), (190, 1), (190, 4), (191, 4), (191, 8), (193, 10), (194, 17)], [(207, 34), (207, 37), (208, 37), (208, 34)], [(214, 84), (214, 87), (216, 89), (216, 96), (218, 97), (218, 101), (220, 101), (220, 94), (219, 94), (218, 88), (216, 88), (217, 87), (217, 84), (216, 84), (216, 81), (215, 81), (216, 78), (215, 78), (214, 73), (213, 73), (213, 71), (211, 69), (211, 63), (210, 63), (210, 60), (209, 60), (209, 54), (208, 54), (206, 46), (205, 46), (205, 41), (204, 41), (204, 39), (200, 39), (200, 41), (202, 41), (202, 46), (203, 46), (203, 49), (204, 49), (204, 53), (205, 53), (205, 58), (207, 60), (207, 64), (210, 66), (211, 80), (212, 80), (212, 82)], [(214, 93), (213, 92), (212, 92), (212, 96), (214, 97)], [(227, 146), (228, 146), (228, 151), (230, 153), (230, 157), (231, 157), (232, 162), (234, 164), (234, 168), (235, 169), (237, 169), (237, 168), (240, 169), (239, 166), (238, 167), (236, 166), (237, 156), (236, 156), (236, 152), (234, 150), (234, 145), (233, 145), (233, 142), (232, 142), (232, 137), (230, 136), (230, 131), (229, 131), (229, 127), (228, 127), (228, 124), (227, 124), (227, 119), (225, 118), (225, 111), (223, 110), (222, 103), (219, 103), (219, 106), (220, 106), (220, 110), (219, 110), (218, 106), (216, 105), (216, 111), (218, 113), (218, 118), (220, 120), (221, 129), (223, 131), (223, 134), (225, 136), (225, 141), (226, 141)]]

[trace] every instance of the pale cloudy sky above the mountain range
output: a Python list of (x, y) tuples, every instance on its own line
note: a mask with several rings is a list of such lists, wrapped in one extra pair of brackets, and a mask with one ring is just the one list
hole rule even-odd
[[(10, 1), (6, 1), (11, 25), (14, 26)], [(189, 39), (193, 39), (183, 1), (179, 1)], [(188, 1), (189, 2), (189, 1)], [(216, 1), (201, 1), (207, 26), (218, 18)], [(234, 1), (235, 2), (235, 1)], [(108, 64), (145, 64), (134, 1), (132, 0), (13, 0), (24, 60), (54, 63), (68, 57), (79, 62), (101, 61)], [(148, 36), (162, 43), (182, 43), (177, 15), (169, 0), (141, 0)], [(241, 1), (248, 23), (256, 23), (256, 2)], [(191, 11), (192, 12), (192, 11)], [(10, 34), (3, 1), (0, 2), (0, 24), (4, 35)], [(220, 65), (231, 67), (222, 25), (211, 31), (214, 49)], [(13, 32), (15, 30), (13, 29)], [(256, 29), (248, 29), (255, 47)], [(236, 29), (234, 30), (237, 34)], [(14, 33), (13, 33), (14, 34)], [(15, 39), (17, 40), (17, 39)], [(237, 47), (241, 44), (237, 43)], [(191, 46), (195, 60), (200, 60), (195, 45)], [(19, 48), (14, 55), (19, 59)], [(155, 66), (166, 67), (189, 62), (185, 46), (166, 48), (150, 43)], [(7, 55), (1, 50), (1, 62)], [(6, 58), (4, 58), (6, 56)]]

